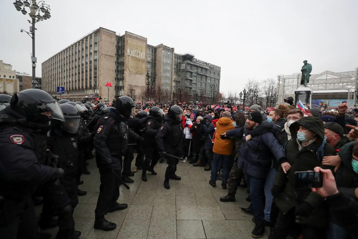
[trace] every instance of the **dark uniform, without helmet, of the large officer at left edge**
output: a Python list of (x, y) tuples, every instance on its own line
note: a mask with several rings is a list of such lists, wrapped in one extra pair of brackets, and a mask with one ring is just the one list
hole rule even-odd
[(0, 237), (37, 238), (31, 196), (39, 183), (53, 181), (57, 172), (39, 163), (46, 158), (40, 130), (30, 129), (25, 121), (20, 125), (7, 111), (15, 115), (7, 108), (0, 116)]

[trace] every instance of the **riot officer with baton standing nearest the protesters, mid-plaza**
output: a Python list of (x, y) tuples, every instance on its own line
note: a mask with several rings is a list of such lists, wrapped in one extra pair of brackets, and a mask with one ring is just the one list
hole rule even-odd
[[(178, 158), (184, 155), (182, 149), (184, 142), (182, 114), (183, 110), (178, 105), (171, 106), (168, 115), (164, 119), (163, 126), (160, 127), (159, 132), (155, 135), (156, 145), (162, 157), (165, 157), (168, 162), (164, 180), (164, 187), (166, 189), (170, 188), (169, 179), (181, 179), (175, 175), (175, 171), (176, 164), (179, 162)], [(170, 155), (175, 156), (175, 158)]]

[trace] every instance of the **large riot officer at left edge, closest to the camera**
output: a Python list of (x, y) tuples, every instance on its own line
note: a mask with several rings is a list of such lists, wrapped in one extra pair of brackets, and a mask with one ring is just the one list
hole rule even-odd
[[(63, 169), (44, 166), (49, 120), (64, 120), (47, 92), (27, 89), (14, 94), (0, 115), (0, 235), (37, 238), (31, 195), (39, 183), (57, 181)], [(6, 150), (4, 150), (6, 149)]]

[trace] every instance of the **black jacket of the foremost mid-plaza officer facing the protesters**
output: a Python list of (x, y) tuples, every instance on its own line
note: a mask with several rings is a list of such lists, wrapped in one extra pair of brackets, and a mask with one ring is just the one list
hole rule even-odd
[(155, 135), (155, 142), (160, 152), (178, 153), (184, 142), (182, 121), (174, 121), (166, 116), (164, 124)]

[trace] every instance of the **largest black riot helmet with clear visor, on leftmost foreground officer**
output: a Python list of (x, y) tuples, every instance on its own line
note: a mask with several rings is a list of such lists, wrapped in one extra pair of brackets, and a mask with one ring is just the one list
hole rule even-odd
[[(57, 100), (50, 94), (39, 89), (20, 91), (11, 98), (10, 106), (20, 111), (29, 122), (48, 124), (50, 119), (64, 121), (62, 110)], [(17, 106), (21, 109), (16, 109)]]

